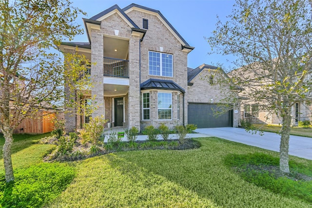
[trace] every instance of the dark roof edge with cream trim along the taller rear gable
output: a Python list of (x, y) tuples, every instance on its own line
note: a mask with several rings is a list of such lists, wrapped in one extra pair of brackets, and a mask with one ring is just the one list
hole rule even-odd
[(176, 31), (176, 29), (170, 24), (170, 22), (156, 9), (151, 9), (151, 8), (148, 8), (148, 7), (145, 7), (145, 6), (141, 6), (141, 5), (138, 5), (138, 4), (135, 4), (135, 3), (132, 3), (130, 4), (129, 6), (126, 6), (125, 8), (123, 8), (122, 10), (127, 13), (127, 11), (131, 10), (132, 8), (134, 7), (137, 7), (139, 9), (143, 9), (143, 10), (147, 10), (147, 11), (150, 11), (150, 12), (153, 12), (153, 13), (156, 13), (160, 16), (161, 19), (164, 20), (164, 22), (169, 26), (169, 28), (176, 34), (176, 36), (178, 38), (180, 38), (180, 40), (182, 41), (181, 44), (182, 44), (182, 49), (186, 48), (186, 49), (189, 49), (190, 51), (192, 51), (194, 49), (194, 47), (191, 47), (186, 41), (184, 38), (182, 38), (182, 36)]

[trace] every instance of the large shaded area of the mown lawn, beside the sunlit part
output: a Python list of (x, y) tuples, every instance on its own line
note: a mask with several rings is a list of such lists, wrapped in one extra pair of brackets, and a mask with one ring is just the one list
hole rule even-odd
[[(137, 181), (140, 184), (137, 189), (158, 191), (167, 183), (177, 186), (176, 190), (155, 193), (164, 199), (166, 194), (181, 194), (179, 190), (182, 188), (196, 195), (198, 200), (214, 206), (254, 207), (255, 203), (260, 207), (311, 206), (254, 186), (229, 170), (223, 164), (223, 158), (231, 152), (240, 152), (240, 149), (246, 151), (245, 146), (219, 138), (198, 140), (202, 143), (200, 149), (117, 152), (107, 155), (107, 159), (114, 169)], [(259, 149), (248, 147), (248, 150)]]

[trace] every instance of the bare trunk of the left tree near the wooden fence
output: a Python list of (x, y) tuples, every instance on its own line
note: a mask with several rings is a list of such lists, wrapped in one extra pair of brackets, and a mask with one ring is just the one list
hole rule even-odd
[(11, 157), (11, 148), (13, 144), (12, 133), (13, 131), (10, 129), (6, 129), (3, 131), (3, 135), (5, 139), (5, 142), (3, 145), (3, 162), (4, 162), (6, 182), (10, 182), (14, 180), (12, 157)]

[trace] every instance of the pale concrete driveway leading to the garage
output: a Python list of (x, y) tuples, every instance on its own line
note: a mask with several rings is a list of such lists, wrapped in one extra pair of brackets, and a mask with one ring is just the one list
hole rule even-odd
[[(260, 136), (258, 133), (252, 134), (244, 129), (232, 127), (196, 129), (195, 132), (279, 152), (281, 136), (277, 133), (264, 132), (264, 135)], [(312, 138), (291, 135), (289, 154), (312, 160)]]

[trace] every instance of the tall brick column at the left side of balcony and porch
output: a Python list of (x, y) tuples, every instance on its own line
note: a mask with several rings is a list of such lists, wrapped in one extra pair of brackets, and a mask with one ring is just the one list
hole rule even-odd
[[(104, 115), (104, 87), (103, 87), (103, 35), (99, 30), (91, 29), (91, 95), (95, 96), (92, 104), (96, 110), (92, 117)], [(95, 64), (96, 63), (96, 64)]]

